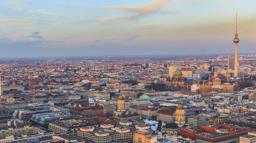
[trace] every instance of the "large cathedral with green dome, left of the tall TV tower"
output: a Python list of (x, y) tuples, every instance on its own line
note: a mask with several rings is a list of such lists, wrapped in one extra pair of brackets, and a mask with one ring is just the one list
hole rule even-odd
[(183, 89), (186, 87), (186, 78), (182, 75), (180, 70), (176, 70), (172, 80), (169, 81), (169, 79), (167, 79), (165, 84), (169, 89)]

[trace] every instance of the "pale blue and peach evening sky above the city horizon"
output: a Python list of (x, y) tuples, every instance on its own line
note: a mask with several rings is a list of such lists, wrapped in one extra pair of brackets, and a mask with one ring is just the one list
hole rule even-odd
[(0, 58), (256, 52), (255, 0), (1, 0)]

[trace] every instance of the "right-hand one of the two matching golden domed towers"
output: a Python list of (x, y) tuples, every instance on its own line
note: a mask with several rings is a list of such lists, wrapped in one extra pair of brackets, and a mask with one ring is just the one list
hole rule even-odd
[(175, 112), (175, 123), (179, 127), (184, 126), (186, 123), (185, 111), (184, 111), (183, 105), (181, 104), (181, 101), (180, 101), (179, 105), (177, 106), (177, 109)]

